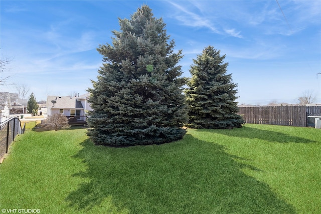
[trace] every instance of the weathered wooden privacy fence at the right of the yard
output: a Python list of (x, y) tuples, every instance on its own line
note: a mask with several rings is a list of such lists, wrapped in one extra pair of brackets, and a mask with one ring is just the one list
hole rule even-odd
[(321, 106), (249, 106), (239, 114), (245, 123), (305, 127), (309, 115), (321, 116)]

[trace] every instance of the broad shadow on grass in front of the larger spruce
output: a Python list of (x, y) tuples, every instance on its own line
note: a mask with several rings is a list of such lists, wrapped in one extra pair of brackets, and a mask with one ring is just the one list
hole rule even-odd
[(78, 211), (295, 213), (267, 184), (241, 170), (258, 169), (235, 161), (224, 146), (190, 134), (162, 145), (112, 148), (88, 139), (82, 146), (74, 158), (87, 170), (74, 176), (88, 181), (66, 198)]

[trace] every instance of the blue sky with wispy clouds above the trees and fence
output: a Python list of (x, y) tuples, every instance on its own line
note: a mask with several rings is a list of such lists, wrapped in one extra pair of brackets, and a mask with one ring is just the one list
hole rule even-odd
[[(321, 103), (321, 1), (1, 1), (1, 57), (12, 60), (0, 91), (26, 84), (37, 100), (85, 94), (96, 80), (99, 44), (111, 44), (118, 18), (143, 4), (162, 18), (184, 76), (212, 45), (226, 55), (239, 104)], [(280, 6), (280, 7), (279, 7)], [(281, 9), (280, 9), (281, 8)], [(318, 78), (317, 78), (318, 76)], [(30, 94), (29, 93), (29, 94)], [(28, 96), (29, 96), (28, 94)]]

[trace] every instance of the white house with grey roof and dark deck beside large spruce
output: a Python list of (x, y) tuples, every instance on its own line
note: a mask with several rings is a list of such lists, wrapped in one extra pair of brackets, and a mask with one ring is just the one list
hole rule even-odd
[(89, 94), (84, 94), (79, 97), (47, 97), (47, 114), (53, 115), (61, 113), (68, 117), (70, 124), (72, 122), (82, 122), (86, 120), (87, 110), (91, 110), (88, 104)]

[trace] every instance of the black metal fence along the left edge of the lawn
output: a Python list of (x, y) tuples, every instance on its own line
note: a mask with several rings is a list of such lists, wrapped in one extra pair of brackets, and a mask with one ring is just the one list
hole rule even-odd
[(0, 161), (8, 153), (11, 143), (18, 134), (25, 132), (25, 126), (21, 127), (18, 117), (11, 118), (0, 125)]

